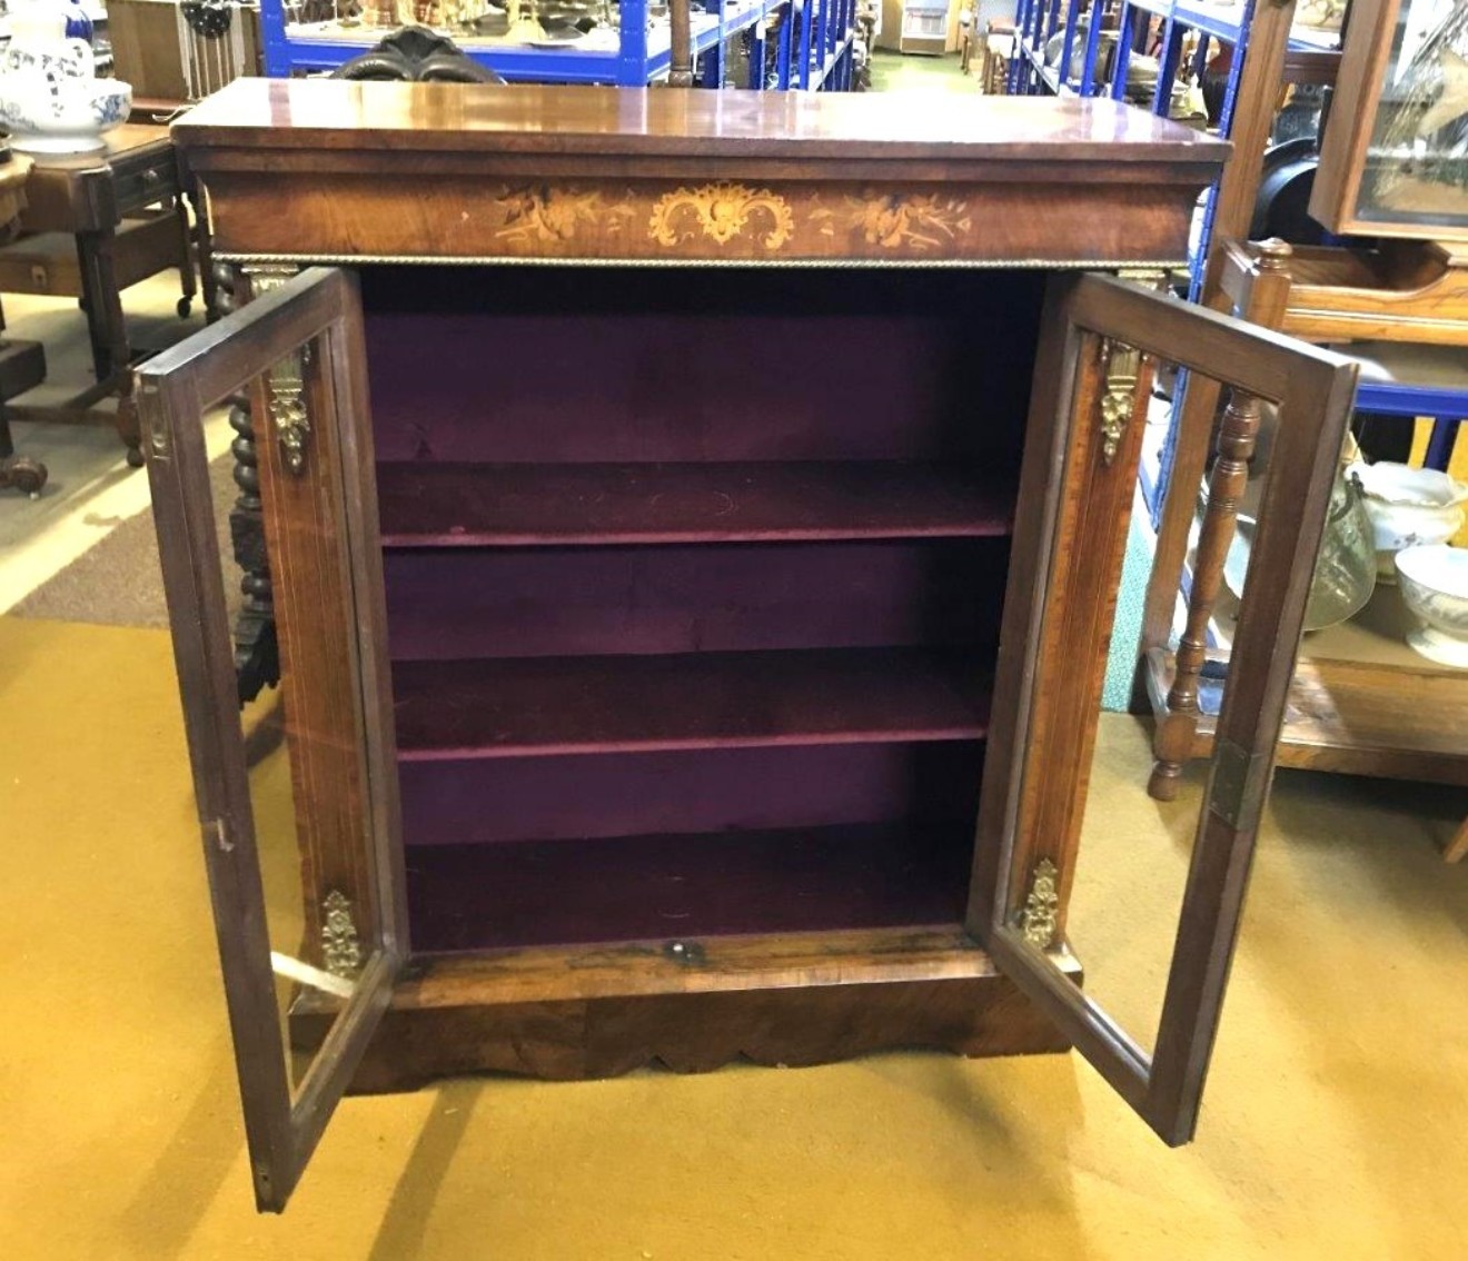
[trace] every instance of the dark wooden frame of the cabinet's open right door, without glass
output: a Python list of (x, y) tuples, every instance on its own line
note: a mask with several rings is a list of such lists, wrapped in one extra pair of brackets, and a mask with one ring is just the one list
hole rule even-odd
[[(1011, 562), (1004, 622), (1009, 659), (1000, 662), (967, 928), (1144, 1120), (1179, 1145), (1196, 1127), (1304, 624), (1314, 567), (1298, 564), (1296, 553), (1314, 556), (1320, 545), (1339, 459), (1339, 443), (1329, 439), (1343, 437), (1356, 368), (1339, 355), (1101, 276), (1066, 282), (1050, 311), (1063, 327), (1045, 329), (1032, 402), (1032, 440), (1048, 449), (1026, 454), (1023, 484), (1032, 489), (1041, 477), (1032, 465), (1044, 467), (1051, 484), (1042, 501), (1022, 498), (1016, 523), (1019, 565)], [(1076, 514), (1083, 512), (1073, 501), (1107, 492), (1095, 474), (1098, 427), (1105, 423), (1094, 360), (1098, 338), (1217, 377), (1277, 404), (1282, 417), (1152, 1055), (1060, 967), (1089, 772), (1067, 725), (1088, 662), (1066, 637), (1064, 590), (1089, 562), (1083, 549), (1070, 546)], [(1324, 420), (1286, 423), (1308, 410)], [(1067, 493), (1072, 483), (1078, 489)], [(1063, 794), (1069, 797), (1057, 802)], [(1055, 915), (1044, 932), (1026, 932), (1026, 890), (1045, 862), (1054, 865), (1045, 878)]]

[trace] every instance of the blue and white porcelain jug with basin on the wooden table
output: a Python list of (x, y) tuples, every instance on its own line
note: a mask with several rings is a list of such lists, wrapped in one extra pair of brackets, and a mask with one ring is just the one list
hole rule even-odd
[(29, 153), (90, 153), (128, 120), (132, 88), (98, 79), (91, 43), (68, 35), (69, 0), (21, 0), (0, 54), (0, 126)]

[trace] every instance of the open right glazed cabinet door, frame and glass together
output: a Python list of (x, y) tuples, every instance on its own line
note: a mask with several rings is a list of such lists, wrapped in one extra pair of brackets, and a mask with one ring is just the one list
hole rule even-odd
[[(1355, 368), (1101, 276), (1057, 283), (1048, 316), (969, 928), (1179, 1145), (1196, 1126)], [(1221, 386), (1211, 493), (1249, 549), (1230, 550), (1227, 583), (1218, 565), (1193, 574), (1242, 592), (1220, 622), (1232, 650), (1207, 778), (1158, 804), (1147, 733), (1098, 711), (1151, 382), (1176, 368)], [(1179, 658), (1201, 666), (1202, 639), (1189, 649), (1185, 634)]]

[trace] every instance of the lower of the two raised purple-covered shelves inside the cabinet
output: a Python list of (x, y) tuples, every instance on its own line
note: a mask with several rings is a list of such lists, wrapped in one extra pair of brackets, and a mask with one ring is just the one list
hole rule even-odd
[(989, 702), (906, 649), (411, 661), (393, 691), (404, 762), (978, 740)]

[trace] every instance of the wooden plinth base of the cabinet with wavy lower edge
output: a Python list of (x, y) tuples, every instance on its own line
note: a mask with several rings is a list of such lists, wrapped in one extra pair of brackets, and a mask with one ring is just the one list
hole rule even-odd
[[(1080, 979), (1066, 951), (1061, 966)], [(292, 1041), (320, 1045), (297, 1004)], [(415, 962), (352, 1091), (464, 1073), (614, 1078), (652, 1063), (809, 1066), (873, 1051), (962, 1055), (1069, 1044), (962, 929), (873, 929), (489, 951)]]

